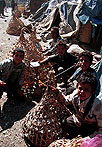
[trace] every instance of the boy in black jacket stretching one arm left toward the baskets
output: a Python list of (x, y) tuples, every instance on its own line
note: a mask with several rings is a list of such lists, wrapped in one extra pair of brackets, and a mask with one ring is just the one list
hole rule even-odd
[[(67, 68), (74, 65), (74, 63), (77, 62), (77, 57), (67, 52), (67, 46), (66, 44), (60, 40), (58, 44), (56, 45), (57, 54), (48, 56), (46, 59), (40, 62), (40, 64), (43, 64), (45, 62), (51, 62), (54, 63), (53, 67), (55, 70), (55, 74), (59, 74), (59, 72), (66, 70)], [(61, 69), (59, 71), (59, 69)], [(74, 68), (71, 68), (71, 70), (63, 75), (63, 82), (66, 83), (68, 78), (72, 76), (72, 74), (75, 72)]]

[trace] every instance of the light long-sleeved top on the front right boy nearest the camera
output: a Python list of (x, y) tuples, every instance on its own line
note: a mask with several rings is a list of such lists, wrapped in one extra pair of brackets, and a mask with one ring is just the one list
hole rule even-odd
[[(63, 98), (66, 100), (67, 104), (72, 104), (75, 110), (75, 113), (72, 114), (74, 123), (77, 126), (81, 126), (82, 123), (87, 124), (97, 124), (98, 132), (95, 132), (95, 135), (98, 133), (102, 133), (102, 101), (98, 98), (95, 98), (92, 104), (92, 107), (89, 109), (85, 118), (83, 118), (86, 106), (91, 97), (84, 100), (82, 103), (80, 98), (77, 95), (77, 89), (70, 95), (64, 96)], [(59, 97), (62, 97), (59, 93)]]

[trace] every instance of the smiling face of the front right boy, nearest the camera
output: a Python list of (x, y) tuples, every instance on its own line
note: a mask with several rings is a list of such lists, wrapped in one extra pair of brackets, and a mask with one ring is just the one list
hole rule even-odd
[(78, 96), (80, 97), (81, 100), (88, 99), (92, 95), (92, 93), (93, 93), (93, 91), (92, 91), (90, 84), (88, 84), (88, 83), (86, 83), (86, 84), (79, 83), (78, 84)]

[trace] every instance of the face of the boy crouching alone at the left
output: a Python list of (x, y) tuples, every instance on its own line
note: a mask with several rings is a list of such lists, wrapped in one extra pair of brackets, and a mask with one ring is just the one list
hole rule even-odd
[(24, 56), (22, 52), (15, 51), (15, 54), (13, 55), (13, 60), (16, 65), (20, 64), (23, 58)]

